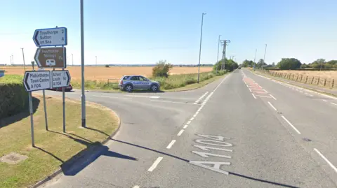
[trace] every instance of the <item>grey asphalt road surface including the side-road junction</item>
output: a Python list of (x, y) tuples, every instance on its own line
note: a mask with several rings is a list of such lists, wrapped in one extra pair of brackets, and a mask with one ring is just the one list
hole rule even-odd
[(187, 92), (86, 99), (116, 111), (121, 129), (109, 152), (44, 187), (337, 187), (328, 96), (236, 70)]

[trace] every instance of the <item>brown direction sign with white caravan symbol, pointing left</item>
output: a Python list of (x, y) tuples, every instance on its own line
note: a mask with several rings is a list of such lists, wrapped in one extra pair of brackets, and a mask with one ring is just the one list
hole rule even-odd
[(67, 58), (65, 47), (37, 48), (34, 59), (39, 68), (65, 68)]

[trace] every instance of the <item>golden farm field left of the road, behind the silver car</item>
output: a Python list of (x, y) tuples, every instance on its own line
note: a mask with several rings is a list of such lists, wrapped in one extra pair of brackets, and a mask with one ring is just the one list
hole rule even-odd
[[(31, 71), (32, 67), (26, 67), (26, 71)], [(201, 66), (200, 72), (209, 72), (212, 71), (211, 66)], [(72, 80), (81, 80), (81, 66), (69, 66), (66, 68), (70, 71), (72, 75)], [(5, 74), (18, 74), (23, 75), (25, 73), (24, 68), (12, 67), (12, 66), (0, 66), (0, 70), (5, 70)], [(187, 73), (198, 73), (198, 67), (179, 67), (174, 66), (170, 74), (187, 74)], [(98, 80), (98, 81), (107, 81), (108, 78), (119, 79), (122, 75), (144, 75), (145, 77), (152, 76), (152, 66), (110, 66), (106, 68), (104, 66), (86, 66), (84, 75), (86, 80)]]

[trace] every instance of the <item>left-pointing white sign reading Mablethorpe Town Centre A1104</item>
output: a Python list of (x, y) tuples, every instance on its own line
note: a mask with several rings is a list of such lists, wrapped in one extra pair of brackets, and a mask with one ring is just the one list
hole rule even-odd
[(27, 92), (51, 88), (50, 71), (26, 71), (23, 84)]

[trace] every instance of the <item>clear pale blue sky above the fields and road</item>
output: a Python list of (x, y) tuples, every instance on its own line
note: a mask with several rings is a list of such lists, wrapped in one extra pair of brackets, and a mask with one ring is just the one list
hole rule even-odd
[[(2, 0), (0, 64), (26, 64), (37, 49), (35, 29), (67, 27), (67, 64), (81, 63), (79, 0)], [(337, 59), (336, 0), (84, 0), (85, 64), (201, 64), (217, 60), (218, 36), (230, 40), (226, 57), (311, 63)], [(222, 48), (222, 47), (221, 47)], [(221, 50), (220, 50), (221, 51)], [(222, 57), (219, 53), (219, 57)], [(30, 63), (29, 63), (30, 64)]]

